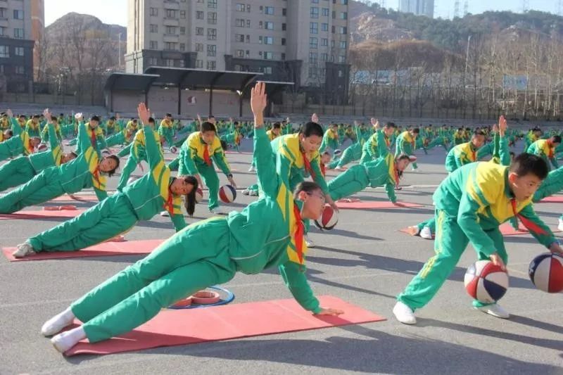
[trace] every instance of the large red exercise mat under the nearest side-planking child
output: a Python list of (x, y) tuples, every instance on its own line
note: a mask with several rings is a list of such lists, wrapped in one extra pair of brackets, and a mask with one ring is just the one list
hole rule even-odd
[(134, 331), (94, 344), (81, 341), (65, 355), (103, 355), (385, 320), (340, 298), (322, 295), (319, 300), (322, 306), (344, 310), (344, 314), (339, 317), (313, 315), (293, 299), (163, 310)]

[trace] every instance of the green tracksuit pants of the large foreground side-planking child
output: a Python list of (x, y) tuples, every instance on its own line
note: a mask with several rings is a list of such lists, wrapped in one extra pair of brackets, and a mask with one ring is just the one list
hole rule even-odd
[(131, 331), (163, 307), (232, 279), (236, 265), (229, 255), (230, 237), (224, 218), (192, 224), (72, 303), (89, 341)]

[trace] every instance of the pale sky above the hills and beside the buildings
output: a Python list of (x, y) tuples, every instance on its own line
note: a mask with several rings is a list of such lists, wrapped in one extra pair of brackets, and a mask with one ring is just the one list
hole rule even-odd
[[(399, 0), (385, 0), (386, 6), (397, 8)], [(460, 0), (461, 11), (465, 0)], [(468, 0), (469, 13), (484, 11), (522, 11), (524, 0)], [(559, 0), (528, 0), (529, 9), (557, 13)], [(434, 0), (436, 17), (453, 17), (455, 0)], [(563, 5), (563, 1), (562, 1)], [(562, 9), (563, 11), (563, 9)], [(127, 0), (45, 0), (45, 24), (51, 25), (66, 13), (95, 15), (103, 23), (127, 26)]]

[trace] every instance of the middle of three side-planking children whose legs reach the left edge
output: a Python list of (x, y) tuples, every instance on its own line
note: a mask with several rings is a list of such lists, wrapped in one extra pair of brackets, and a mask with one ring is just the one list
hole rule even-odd
[(51, 132), (49, 135), (50, 150), (42, 153), (32, 153), (29, 156), (20, 156), (2, 165), (0, 167), (0, 191), (25, 184), (39, 174), (39, 172), (42, 172), (42, 170), (48, 167), (58, 167), (76, 158), (75, 153), (64, 154), (61, 151), (61, 146), (59, 146), (55, 134), (55, 127), (53, 126), (53, 121), (56, 120), (56, 117), (51, 116), (51, 113), (47, 111), (45, 111), (45, 116), (49, 119), (47, 126), (49, 127), (49, 132)]

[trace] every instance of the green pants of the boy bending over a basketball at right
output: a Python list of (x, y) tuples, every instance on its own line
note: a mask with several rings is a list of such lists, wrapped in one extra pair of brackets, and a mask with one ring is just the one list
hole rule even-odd
[[(498, 255), (507, 264), (508, 255), (500, 230), (495, 228), (485, 231), (485, 233), (493, 240)], [(468, 244), (469, 239), (457, 225), (457, 218), (446, 215), (444, 211), (436, 210), (436, 239), (434, 240), (436, 255), (426, 262), (417, 276), (407, 285), (405, 291), (398, 295), (397, 299), (412, 310), (424, 307), (436, 295), (445, 279), (448, 279), (455, 269)], [(489, 259), (483, 253), (479, 253), (478, 258), (479, 260)], [(473, 305), (480, 307), (486, 304), (474, 300)]]

